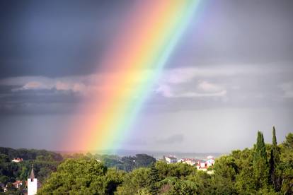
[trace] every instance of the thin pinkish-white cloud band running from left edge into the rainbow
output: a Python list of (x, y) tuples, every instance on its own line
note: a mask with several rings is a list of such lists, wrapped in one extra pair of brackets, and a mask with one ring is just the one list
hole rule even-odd
[[(85, 76), (67, 76), (48, 78), (43, 76), (23, 76), (0, 80), (0, 85), (13, 86), (13, 92), (20, 90), (59, 90), (72, 91), (81, 95), (95, 93), (108, 93), (121, 90), (120, 85), (113, 85), (113, 81), (123, 79), (122, 86), (125, 91), (137, 89), (137, 85), (147, 82), (151, 70), (113, 71), (90, 74)], [(125, 79), (126, 78), (126, 79)], [(128, 93), (125, 93), (128, 94)]]

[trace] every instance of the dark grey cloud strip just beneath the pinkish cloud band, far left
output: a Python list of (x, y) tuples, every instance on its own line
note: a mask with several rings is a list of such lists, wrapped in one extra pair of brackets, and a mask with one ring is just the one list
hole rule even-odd
[(0, 85), (0, 115), (62, 114), (74, 112), (80, 97), (72, 91), (18, 90)]

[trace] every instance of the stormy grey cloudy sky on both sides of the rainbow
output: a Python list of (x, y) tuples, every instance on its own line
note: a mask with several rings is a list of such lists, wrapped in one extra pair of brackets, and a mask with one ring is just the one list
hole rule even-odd
[[(0, 146), (64, 149), (71, 122), (91, 117), (79, 107), (115, 76), (101, 61), (133, 4), (0, 1)], [(272, 126), (281, 143), (293, 131), (292, 18), (290, 0), (201, 3), (122, 149), (226, 153), (257, 131), (270, 143)]]

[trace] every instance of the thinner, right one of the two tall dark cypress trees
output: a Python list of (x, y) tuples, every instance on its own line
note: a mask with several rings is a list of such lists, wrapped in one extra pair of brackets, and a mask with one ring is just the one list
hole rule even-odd
[(270, 150), (270, 183), (275, 191), (280, 190), (280, 184), (277, 177), (276, 167), (280, 163), (280, 148), (277, 146), (277, 137), (275, 126), (272, 126), (272, 148)]

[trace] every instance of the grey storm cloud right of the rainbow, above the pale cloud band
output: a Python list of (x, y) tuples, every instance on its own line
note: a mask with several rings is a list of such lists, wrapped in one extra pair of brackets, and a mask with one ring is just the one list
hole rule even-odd
[(293, 1), (211, 0), (203, 5), (168, 67), (280, 61), (292, 66)]

